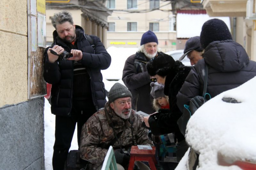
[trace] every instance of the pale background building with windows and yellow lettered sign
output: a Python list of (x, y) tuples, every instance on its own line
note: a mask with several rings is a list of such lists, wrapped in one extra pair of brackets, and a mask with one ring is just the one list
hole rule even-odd
[(108, 17), (107, 48), (137, 48), (142, 34), (151, 30), (158, 38), (161, 51), (176, 50), (175, 16), (171, 1), (109, 0), (106, 6), (113, 11)]

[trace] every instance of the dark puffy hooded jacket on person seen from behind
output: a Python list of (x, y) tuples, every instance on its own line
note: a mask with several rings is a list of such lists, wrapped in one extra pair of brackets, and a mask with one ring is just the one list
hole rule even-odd
[(177, 105), (183, 112), (184, 104), (202, 95), (205, 63), (209, 65), (207, 92), (211, 97), (240, 86), (256, 75), (256, 62), (250, 61), (244, 48), (232, 41), (214, 41), (204, 51), (200, 60), (188, 74), (177, 94)]

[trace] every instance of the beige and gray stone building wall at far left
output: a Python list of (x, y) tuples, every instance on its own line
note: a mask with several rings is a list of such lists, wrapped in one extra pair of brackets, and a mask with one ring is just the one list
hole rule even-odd
[(2, 170), (44, 169), (44, 97), (28, 97), (28, 2), (0, 1)]

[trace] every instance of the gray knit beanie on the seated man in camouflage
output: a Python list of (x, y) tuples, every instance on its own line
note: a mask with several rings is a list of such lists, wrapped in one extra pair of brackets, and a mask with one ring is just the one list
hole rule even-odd
[(115, 101), (118, 98), (131, 97), (131, 92), (127, 87), (120, 83), (115, 83), (109, 90), (109, 103)]

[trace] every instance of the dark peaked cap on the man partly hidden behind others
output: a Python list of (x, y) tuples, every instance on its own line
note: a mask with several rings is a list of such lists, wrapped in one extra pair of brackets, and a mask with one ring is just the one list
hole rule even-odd
[(190, 51), (203, 51), (203, 48), (200, 46), (200, 37), (195, 36), (191, 37), (187, 40), (184, 48), (184, 54), (180, 57), (179, 61), (182, 61), (183, 58), (190, 52)]

